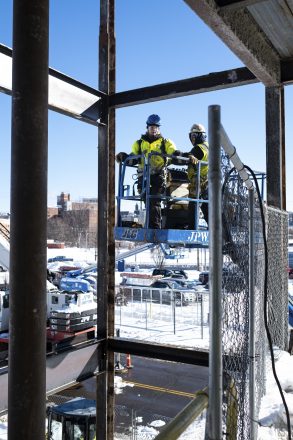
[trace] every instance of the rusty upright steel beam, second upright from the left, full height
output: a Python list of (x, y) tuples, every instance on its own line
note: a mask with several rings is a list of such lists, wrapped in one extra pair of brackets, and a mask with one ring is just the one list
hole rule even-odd
[[(110, 91), (110, 14), (114, 0), (100, 1), (100, 32), (99, 32), (99, 89), (109, 95)], [(107, 339), (112, 332), (112, 308), (108, 293), (110, 249), (110, 116), (108, 101), (103, 102), (103, 125), (99, 126), (98, 133), (98, 280), (97, 280), (97, 338)], [(112, 120), (111, 120), (112, 127)], [(114, 435), (114, 357), (109, 356), (106, 349), (100, 360), (100, 374), (97, 376), (97, 439), (112, 440)]]

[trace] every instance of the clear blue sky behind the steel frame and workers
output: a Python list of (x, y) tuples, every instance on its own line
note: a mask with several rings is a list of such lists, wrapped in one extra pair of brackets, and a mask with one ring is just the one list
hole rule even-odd
[[(50, 67), (98, 86), (99, 2), (50, 0)], [(12, 47), (12, 0), (0, 2), (0, 42)], [(182, 0), (116, 0), (117, 91), (176, 81), (236, 67), (242, 62)], [(151, 113), (162, 133), (190, 149), (194, 122), (207, 126), (208, 106), (221, 106), (222, 123), (242, 161), (265, 170), (264, 86), (255, 84), (119, 109), (117, 151), (130, 151)], [(293, 89), (285, 89), (287, 209), (293, 210)], [(0, 94), (0, 211), (9, 211), (11, 98)], [(291, 126), (290, 126), (291, 125)], [(97, 142), (93, 126), (49, 114), (48, 205), (61, 191), (72, 200), (97, 195)]]

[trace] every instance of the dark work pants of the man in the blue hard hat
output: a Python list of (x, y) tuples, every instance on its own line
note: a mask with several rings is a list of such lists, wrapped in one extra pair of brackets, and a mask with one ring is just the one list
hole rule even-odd
[[(158, 174), (150, 175), (150, 195), (156, 196), (161, 195), (165, 191), (165, 174), (164, 171)], [(138, 192), (141, 193), (142, 189), (142, 177), (138, 177), (137, 181), (137, 189)], [(145, 202), (145, 195), (143, 197)], [(161, 199), (153, 198), (150, 199), (149, 205), (149, 228), (151, 229), (161, 229)]]

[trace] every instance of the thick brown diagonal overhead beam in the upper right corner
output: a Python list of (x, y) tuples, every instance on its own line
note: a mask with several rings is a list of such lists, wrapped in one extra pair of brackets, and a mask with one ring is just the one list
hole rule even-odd
[(220, 8), (216, 0), (184, 0), (266, 86), (280, 84), (277, 51), (245, 8)]

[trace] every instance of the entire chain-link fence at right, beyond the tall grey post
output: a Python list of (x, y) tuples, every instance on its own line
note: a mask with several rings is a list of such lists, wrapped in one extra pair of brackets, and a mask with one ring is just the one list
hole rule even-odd
[[(267, 338), (264, 325), (265, 230), (259, 200), (254, 197), (253, 271), (249, 262), (249, 190), (236, 171), (223, 185), (223, 375), (226, 435), (233, 439), (251, 438), (251, 395), (257, 420), (265, 393)], [(268, 318), (273, 344), (286, 349), (288, 341), (287, 214), (266, 209), (268, 247)], [(250, 277), (254, 283), (254, 350), (250, 358)], [(249, 369), (254, 368), (254, 383)], [(253, 392), (252, 392), (253, 390)], [(257, 430), (256, 424), (254, 425)]]

